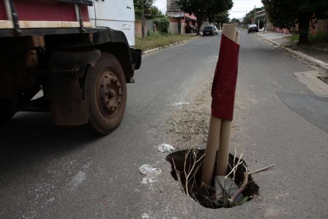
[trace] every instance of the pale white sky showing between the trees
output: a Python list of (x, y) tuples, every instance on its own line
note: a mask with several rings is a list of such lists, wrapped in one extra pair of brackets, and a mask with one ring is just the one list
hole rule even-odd
[[(234, 7), (231, 8), (229, 11), (230, 19), (240, 18), (246, 14), (246, 11), (249, 12), (250, 10), (256, 7), (262, 7), (261, 0), (233, 0)], [(157, 6), (161, 11), (166, 12), (166, 0), (156, 0), (155, 6)]]

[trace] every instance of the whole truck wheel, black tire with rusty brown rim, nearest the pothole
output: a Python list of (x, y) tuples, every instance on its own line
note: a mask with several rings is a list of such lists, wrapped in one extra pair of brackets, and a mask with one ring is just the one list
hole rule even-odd
[(113, 54), (104, 52), (86, 78), (89, 123), (100, 134), (119, 126), (126, 106), (126, 81), (123, 68)]

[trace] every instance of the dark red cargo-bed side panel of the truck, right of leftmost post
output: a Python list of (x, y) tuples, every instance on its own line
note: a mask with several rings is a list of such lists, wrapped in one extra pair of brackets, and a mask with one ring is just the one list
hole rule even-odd
[[(76, 21), (73, 4), (45, 0), (15, 0), (20, 21)], [(83, 21), (89, 21), (87, 6), (82, 7)]]

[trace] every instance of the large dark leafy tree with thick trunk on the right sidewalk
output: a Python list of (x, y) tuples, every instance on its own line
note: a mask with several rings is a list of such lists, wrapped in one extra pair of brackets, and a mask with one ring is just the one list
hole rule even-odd
[(327, 0), (262, 0), (262, 3), (275, 26), (290, 29), (298, 24), (299, 44), (308, 43), (312, 19), (328, 17)]

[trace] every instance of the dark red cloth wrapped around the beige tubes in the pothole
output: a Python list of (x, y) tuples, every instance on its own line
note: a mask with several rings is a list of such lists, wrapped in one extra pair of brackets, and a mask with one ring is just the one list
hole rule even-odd
[(238, 73), (239, 45), (222, 34), (220, 53), (212, 85), (211, 115), (233, 120)]

